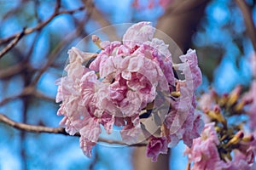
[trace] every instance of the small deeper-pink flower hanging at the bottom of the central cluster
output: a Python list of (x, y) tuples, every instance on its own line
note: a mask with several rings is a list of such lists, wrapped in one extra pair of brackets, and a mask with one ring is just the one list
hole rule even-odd
[(160, 153), (166, 154), (168, 150), (166, 137), (152, 138), (147, 145), (147, 156), (152, 157), (152, 161), (157, 161)]

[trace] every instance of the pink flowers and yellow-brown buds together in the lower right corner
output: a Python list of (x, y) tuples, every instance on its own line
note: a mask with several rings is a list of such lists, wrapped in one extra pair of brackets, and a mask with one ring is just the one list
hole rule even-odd
[[(230, 94), (218, 95), (212, 90), (201, 96), (199, 107), (208, 123), (201, 138), (195, 139), (192, 148), (185, 151), (189, 163), (194, 162), (192, 169), (207, 169), (209, 165), (212, 169), (225, 170), (255, 168), (256, 140), (245, 127), (247, 119), (241, 118), (241, 115), (246, 117), (246, 107), (253, 100), (243, 98), (241, 91), (242, 87), (237, 86)], [(206, 150), (212, 150), (208, 156), (200, 149), (202, 145), (208, 147)], [(197, 155), (201, 159), (196, 159)]]

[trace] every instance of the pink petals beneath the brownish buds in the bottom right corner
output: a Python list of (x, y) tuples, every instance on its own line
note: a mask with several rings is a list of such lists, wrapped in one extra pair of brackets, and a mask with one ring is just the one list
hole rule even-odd
[(192, 170), (253, 170), (256, 168), (255, 141), (254, 139), (252, 142), (241, 141), (238, 148), (234, 150), (233, 160), (222, 160), (218, 150), (218, 144), (220, 144), (218, 133), (215, 131), (214, 122), (211, 122), (204, 127), (201, 138), (194, 139), (192, 147), (187, 148), (184, 154), (188, 155), (190, 163), (193, 162)]

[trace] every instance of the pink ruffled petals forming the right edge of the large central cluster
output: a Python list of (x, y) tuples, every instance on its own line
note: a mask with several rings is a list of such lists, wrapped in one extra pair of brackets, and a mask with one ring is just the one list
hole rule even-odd
[[(188, 54), (180, 57), (182, 64), (174, 65), (178, 70), (183, 71), (184, 81), (178, 81), (181, 96), (172, 104), (172, 111), (166, 116), (166, 126), (170, 134), (178, 139), (183, 139), (184, 144), (189, 147), (193, 139), (200, 136), (203, 122), (201, 116), (195, 116), (195, 88), (201, 83), (201, 71), (197, 65), (195, 51), (189, 50)], [(169, 140), (172, 140), (170, 138)]]

